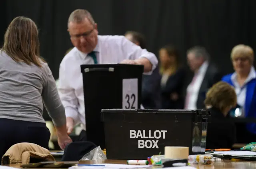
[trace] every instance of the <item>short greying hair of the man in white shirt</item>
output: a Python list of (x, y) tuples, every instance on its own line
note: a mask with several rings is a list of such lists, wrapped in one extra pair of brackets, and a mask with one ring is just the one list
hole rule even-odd
[(92, 18), (92, 15), (90, 14), (90, 12), (84, 9), (74, 10), (68, 18), (68, 24), (70, 22), (75, 22), (80, 24), (82, 21), (84, 21), (84, 18), (87, 18), (92, 24), (95, 24), (94, 19)]

